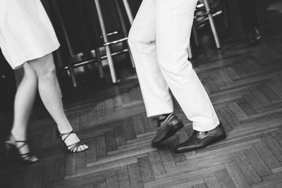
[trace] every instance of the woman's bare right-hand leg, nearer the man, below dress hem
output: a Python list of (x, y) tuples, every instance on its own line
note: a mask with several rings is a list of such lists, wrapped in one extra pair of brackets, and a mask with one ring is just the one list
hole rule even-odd
[[(37, 58), (28, 63), (30, 63), (37, 74), (40, 97), (44, 106), (47, 108), (47, 111), (49, 111), (50, 115), (58, 125), (59, 132), (70, 132), (73, 128), (63, 111), (61, 93), (52, 54)], [(68, 139), (66, 139), (66, 144), (70, 145), (78, 141), (79, 139), (76, 134), (71, 134)], [(80, 150), (82, 149), (87, 149), (87, 146), (80, 146)]]

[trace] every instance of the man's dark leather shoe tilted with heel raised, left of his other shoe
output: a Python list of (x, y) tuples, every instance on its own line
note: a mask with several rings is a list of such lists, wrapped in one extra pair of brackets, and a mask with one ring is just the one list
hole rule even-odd
[(152, 146), (158, 146), (161, 142), (176, 134), (183, 126), (183, 123), (173, 113), (168, 115), (164, 121), (158, 120), (157, 134), (152, 140)]

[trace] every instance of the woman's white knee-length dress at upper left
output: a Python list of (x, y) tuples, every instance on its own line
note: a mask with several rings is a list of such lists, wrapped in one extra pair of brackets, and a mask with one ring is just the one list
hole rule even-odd
[(13, 69), (59, 46), (40, 0), (0, 0), (0, 48)]

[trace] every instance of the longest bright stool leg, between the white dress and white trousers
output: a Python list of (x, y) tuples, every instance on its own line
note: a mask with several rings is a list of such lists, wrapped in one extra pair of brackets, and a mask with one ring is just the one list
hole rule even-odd
[[(108, 37), (106, 36), (106, 27), (105, 27), (105, 24), (104, 24), (101, 6), (100, 6), (100, 3), (99, 3), (99, 0), (94, 0), (94, 1), (95, 1), (95, 5), (96, 5), (96, 8), (97, 8), (99, 23), (101, 25), (101, 30), (102, 30), (104, 42), (106, 43), (106, 42), (109, 42), (109, 41), (108, 41)], [(116, 72), (115, 72), (115, 69), (114, 69), (114, 61), (113, 61), (113, 58), (111, 57), (111, 49), (108, 45), (106, 45), (105, 48), (106, 48), (106, 57), (108, 59), (109, 68), (110, 68), (110, 72), (111, 72), (111, 80), (113, 81), (113, 83), (116, 83), (117, 82)]]

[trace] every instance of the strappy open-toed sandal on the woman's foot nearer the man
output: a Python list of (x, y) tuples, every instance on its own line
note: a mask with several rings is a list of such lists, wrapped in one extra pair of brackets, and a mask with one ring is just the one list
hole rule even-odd
[[(59, 130), (57, 129), (57, 139), (60, 139), (63, 142), (63, 145), (66, 146), (66, 148), (68, 149), (68, 151), (72, 152), (72, 153), (78, 153), (78, 152), (82, 152), (82, 151), (86, 151), (87, 149), (89, 149), (89, 147), (85, 144), (83, 144), (81, 141), (75, 142), (74, 144), (71, 145), (66, 145), (66, 139), (71, 135), (71, 134), (76, 134), (74, 130), (72, 130), (71, 132), (66, 132), (66, 133), (60, 133)], [(66, 137), (63, 139), (63, 136)], [(80, 146), (83, 146), (84, 149), (80, 149)], [(85, 148), (85, 146), (87, 146), (87, 148)]]

